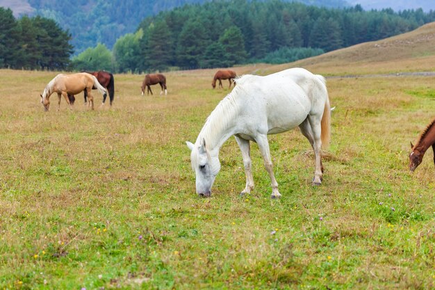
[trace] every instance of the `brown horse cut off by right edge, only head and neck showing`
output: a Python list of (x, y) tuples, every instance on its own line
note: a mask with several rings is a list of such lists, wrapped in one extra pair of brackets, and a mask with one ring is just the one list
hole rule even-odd
[(420, 138), (416, 145), (411, 143), (411, 154), (409, 154), (409, 170), (416, 170), (417, 166), (420, 165), (423, 155), (425, 155), (426, 150), (432, 146), (434, 150), (434, 164), (435, 164), (435, 119), (432, 120), (430, 124), (427, 125), (426, 129), (420, 134)]

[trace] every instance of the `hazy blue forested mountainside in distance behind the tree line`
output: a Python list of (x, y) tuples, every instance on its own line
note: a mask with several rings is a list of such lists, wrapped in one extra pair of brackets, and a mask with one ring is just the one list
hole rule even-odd
[[(136, 31), (147, 16), (171, 10), (185, 4), (208, 0), (28, 0), (35, 9), (33, 15), (54, 19), (72, 33), (75, 54), (97, 43), (112, 49), (115, 41)], [(287, 0), (293, 1), (293, 0)], [(224, 1), (218, 1), (225, 6)], [(243, 2), (243, 1), (242, 1)], [(299, 0), (309, 5), (325, 7), (347, 6), (345, 0)]]

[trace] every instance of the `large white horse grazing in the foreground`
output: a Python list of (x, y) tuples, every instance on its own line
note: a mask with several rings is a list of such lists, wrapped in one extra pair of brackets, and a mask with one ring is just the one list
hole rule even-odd
[(249, 141), (258, 144), (265, 168), (272, 182), (272, 198), (280, 198), (273, 174), (268, 134), (278, 134), (299, 126), (315, 154), (313, 185), (322, 182), (320, 156), (322, 143), (327, 145), (331, 131), (331, 110), (323, 76), (302, 68), (293, 68), (268, 76), (245, 75), (237, 86), (208, 116), (190, 150), (196, 175), (196, 190), (209, 197), (220, 170), (219, 149), (232, 135), (242, 151), (246, 186), (242, 195), (254, 188)]

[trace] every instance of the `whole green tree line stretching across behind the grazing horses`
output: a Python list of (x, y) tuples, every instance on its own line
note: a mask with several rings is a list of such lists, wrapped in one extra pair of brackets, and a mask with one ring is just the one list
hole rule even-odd
[(146, 17), (135, 33), (72, 58), (71, 35), (42, 17), (15, 19), (0, 8), (0, 67), (151, 72), (286, 63), (416, 29), (435, 11), (395, 13), (302, 3), (227, 0), (186, 5)]

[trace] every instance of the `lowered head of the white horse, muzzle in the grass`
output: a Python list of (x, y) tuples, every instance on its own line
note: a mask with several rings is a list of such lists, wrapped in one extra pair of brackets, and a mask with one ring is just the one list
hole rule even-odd
[(217, 173), (220, 170), (219, 152), (207, 150), (204, 139), (197, 140), (192, 144), (186, 142), (190, 152), (190, 162), (192, 169), (195, 171), (197, 194), (204, 198), (211, 196), (211, 186), (215, 182)]

